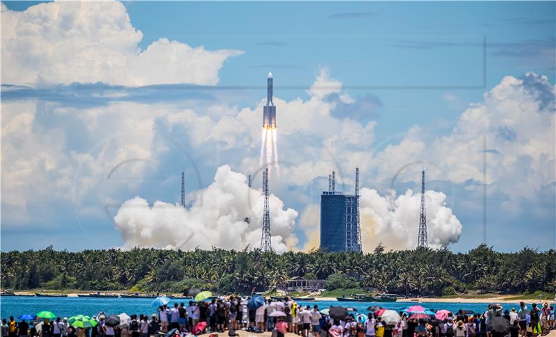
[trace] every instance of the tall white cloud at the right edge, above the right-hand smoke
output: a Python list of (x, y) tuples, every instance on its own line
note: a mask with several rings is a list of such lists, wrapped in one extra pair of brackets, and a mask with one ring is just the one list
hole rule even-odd
[[(434, 180), (483, 182), (486, 140), (486, 183), (509, 198), (507, 210), (522, 211), (521, 198), (534, 199), (555, 179), (556, 87), (546, 76), (506, 76), (470, 104), (452, 133), (430, 138), (412, 128), (398, 145), (388, 145), (375, 156), (377, 175), (392, 176), (393, 165), (425, 160), (427, 175)], [(404, 172), (400, 181), (414, 181), (416, 168)]]

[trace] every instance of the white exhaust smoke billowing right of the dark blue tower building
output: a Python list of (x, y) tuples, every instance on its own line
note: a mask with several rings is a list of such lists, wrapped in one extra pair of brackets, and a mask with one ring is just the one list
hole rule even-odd
[[(361, 241), (363, 251), (372, 252), (382, 243), (388, 249), (417, 247), (420, 194), (407, 190), (404, 195), (382, 197), (377, 190), (360, 191)], [(461, 222), (445, 206), (443, 192), (427, 190), (427, 237), (429, 247), (441, 248), (457, 243)]]

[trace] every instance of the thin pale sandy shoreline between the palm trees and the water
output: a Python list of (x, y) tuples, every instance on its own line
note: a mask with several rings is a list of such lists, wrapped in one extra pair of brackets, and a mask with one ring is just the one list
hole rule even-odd
[[(34, 294), (35, 292), (31, 292), (31, 291), (16, 291), (14, 292), (15, 295), (31, 295)], [(65, 294), (67, 295), (67, 297), (78, 297), (78, 295), (88, 295), (91, 292), (80, 292), (80, 293), (63, 293), (63, 291), (48, 291), (45, 292), (47, 294)], [(120, 292), (120, 291), (115, 291), (115, 292), (103, 292), (103, 294), (115, 294), (115, 295), (120, 295), (121, 293), (125, 293), (125, 292)], [(166, 294), (166, 296), (172, 296), (172, 294)], [(408, 298), (404, 298), (404, 299), (398, 299), (398, 301), (396, 302), (385, 302), (385, 303), (397, 303), (397, 302), (412, 302), (412, 303), (427, 303), (427, 302), (437, 302), (437, 303), (486, 303), (486, 304), (491, 304), (491, 303), (518, 303), (520, 301), (523, 302), (537, 302), (537, 303), (541, 303), (541, 302), (556, 302), (555, 299), (518, 299), (519, 297), (521, 297), (521, 295), (493, 295), (491, 297), (477, 297), (477, 298), (473, 298), (473, 297), (450, 297), (450, 298), (444, 298), (444, 297), (408, 297)], [(300, 297), (299, 299), (300, 301), (302, 301), (302, 297)], [(315, 302), (320, 302), (320, 301), (337, 301), (336, 297), (314, 297), (314, 301)], [(338, 301), (338, 303), (341, 303)], [(345, 303), (350, 303), (350, 302), (345, 302)]]

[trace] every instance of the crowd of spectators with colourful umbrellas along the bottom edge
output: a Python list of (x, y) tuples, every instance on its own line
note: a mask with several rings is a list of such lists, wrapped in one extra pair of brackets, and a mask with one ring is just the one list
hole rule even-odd
[[(107, 324), (106, 315), (92, 317), (94, 327), (74, 327), (67, 318), (54, 320), (2, 320), (2, 337), (150, 337), (218, 334), (227, 331), (253, 333), (272, 331), (273, 337), (298, 334), (303, 337), (537, 337), (555, 328), (553, 306), (543, 303), (529, 308), (503, 309), (491, 304), (482, 313), (448, 313), (414, 319), (402, 312), (397, 322), (386, 322), (379, 312), (361, 315), (348, 312), (338, 319), (320, 310), (318, 305), (300, 306), (289, 297), (264, 299), (252, 306), (249, 299), (230, 296), (210, 302), (189, 302), (158, 307), (152, 315), (131, 315), (125, 324)], [(507, 320), (507, 321), (506, 321)], [(393, 324), (394, 323), (394, 324)], [(507, 331), (497, 325), (507, 324)]]

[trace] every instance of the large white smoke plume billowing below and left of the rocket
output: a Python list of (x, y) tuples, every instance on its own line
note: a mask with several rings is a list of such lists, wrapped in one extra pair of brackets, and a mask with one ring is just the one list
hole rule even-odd
[[(190, 208), (135, 197), (124, 202), (114, 217), (124, 247), (167, 249), (244, 249), (261, 245), (263, 194), (247, 186), (245, 175), (228, 165), (218, 168), (213, 183), (197, 192)], [(297, 211), (270, 195), (272, 248), (287, 250), (296, 242), (293, 227)], [(250, 222), (245, 218), (249, 217)]]

